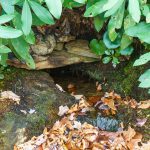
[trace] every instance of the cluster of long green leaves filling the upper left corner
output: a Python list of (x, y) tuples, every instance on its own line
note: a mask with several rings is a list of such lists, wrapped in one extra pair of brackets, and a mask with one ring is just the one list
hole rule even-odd
[(0, 7), (0, 64), (6, 66), (8, 53), (13, 52), (34, 69), (29, 53), (30, 44), (35, 43), (32, 26), (54, 24), (53, 16), (61, 16), (61, 0), (0, 0)]

